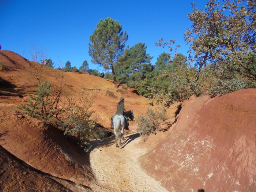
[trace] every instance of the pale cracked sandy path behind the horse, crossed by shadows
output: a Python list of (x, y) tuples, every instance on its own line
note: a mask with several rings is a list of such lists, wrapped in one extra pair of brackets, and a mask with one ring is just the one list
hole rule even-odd
[(137, 163), (138, 157), (146, 153), (146, 148), (137, 146), (141, 139), (139, 134), (130, 132), (124, 139), (122, 149), (116, 148), (114, 137), (93, 144), (97, 147), (90, 153), (90, 162), (101, 186), (95, 191), (165, 192), (166, 189), (144, 173)]

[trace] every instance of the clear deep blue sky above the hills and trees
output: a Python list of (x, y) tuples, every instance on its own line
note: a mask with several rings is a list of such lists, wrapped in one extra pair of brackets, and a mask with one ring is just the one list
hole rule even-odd
[[(43, 49), (47, 58), (63, 65), (69, 60), (77, 68), (84, 60), (90, 69), (102, 69), (91, 63), (89, 36), (100, 19), (111, 17), (123, 25), (130, 47), (138, 42), (147, 45), (154, 58), (167, 49), (156, 47), (163, 38), (176, 40), (178, 52), (187, 55), (184, 32), (191, 27), (188, 13), (193, 0), (0, 0), (0, 44), (30, 59), (30, 46)], [(204, 8), (206, 0), (194, 0)], [(101, 70), (99, 70), (101, 72)]]

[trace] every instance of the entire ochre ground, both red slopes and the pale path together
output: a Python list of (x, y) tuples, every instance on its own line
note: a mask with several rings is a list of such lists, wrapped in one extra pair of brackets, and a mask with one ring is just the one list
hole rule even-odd
[[(144, 141), (135, 121), (122, 149), (109, 137), (91, 141), (84, 153), (59, 130), (15, 112), (35, 93), (38, 64), (5, 50), (0, 63), (0, 191), (256, 191), (256, 89), (192, 96), (176, 116), (179, 103), (168, 109), (164, 132)], [(126, 85), (117, 89), (86, 73), (43, 70), (42, 80), (56, 86), (64, 75), (63, 93), (76, 101), (82, 88), (98, 90), (92, 109), (106, 128), (121, 96), (136, 119), (147, 110), (149, 101)]]

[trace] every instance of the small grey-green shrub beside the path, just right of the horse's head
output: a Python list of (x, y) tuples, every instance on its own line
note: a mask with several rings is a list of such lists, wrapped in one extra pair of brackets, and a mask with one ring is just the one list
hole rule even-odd
[(163, 108), (160, 112), (154, 112), (151, 108), (147, 109), (145, 115), (138, 118), (137, 132), (140, 135), (156, 134), (156, 130), (160, 130), (161, 123), (166, 120), (166, 110)]

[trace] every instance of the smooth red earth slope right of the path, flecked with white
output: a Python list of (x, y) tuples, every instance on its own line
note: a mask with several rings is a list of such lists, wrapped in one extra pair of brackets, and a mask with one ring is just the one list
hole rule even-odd
[(142, 166), (169, 191), (256, 191), (256, 89), (184, 102)]

